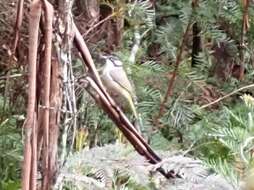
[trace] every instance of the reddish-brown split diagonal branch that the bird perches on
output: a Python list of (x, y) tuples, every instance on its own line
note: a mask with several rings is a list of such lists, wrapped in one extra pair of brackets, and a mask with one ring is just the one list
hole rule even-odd
[[(124, 136), (126, 136), (137, 152), (142, 156), (145, 156), (152, 164), (160, 162), (161, 158), (145, 142), (144, 138), (137, 132), (133, 124), (128, 120), (125, 114), (106, 92), (84, 39), (82, 38), (76, 26), (74, 26), (74, 30), (74, 43), (85, 62), (85, 66), (88, 68), (88, 72), (92, 77), (86, 77), (85, 80), (81, 79), (81, 83), (83, 83), (91, 96), (96, 100), (97, 104), (101, 105), (102, 109), (123, 132)], [(91, 93), (89, 87), (92, 87), (96, 94)], [(160, 171), (165, 177), (170, 177), (170, 174), (167, 174), (162, 168), (159, 168), (158, 171)]]

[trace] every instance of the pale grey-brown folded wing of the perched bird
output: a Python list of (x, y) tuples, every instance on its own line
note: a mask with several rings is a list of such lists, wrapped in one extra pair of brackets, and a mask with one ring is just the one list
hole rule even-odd
[(118, 83), (122, 88), (126, 89), (132, 96), (134, 95), (134, 90), (122, 67), (114, 68), (113, 70), (109, 72), (109, 74), (110, 74), (110, 77), (116, 83)]

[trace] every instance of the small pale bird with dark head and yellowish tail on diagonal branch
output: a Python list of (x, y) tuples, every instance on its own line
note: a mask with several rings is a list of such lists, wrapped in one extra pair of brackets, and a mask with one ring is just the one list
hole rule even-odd
[[(106, 90), (123, 110), (131, 110), (135, 121), (138, 121), (134, 104), (136, 102), (135, 92), (123, 68), (122, 61), (111, 55), (99, 55), (98, 57), (99, 64), (102, 65), (99, 73)], [(137, 130), (140, 132), (139, 128)]]

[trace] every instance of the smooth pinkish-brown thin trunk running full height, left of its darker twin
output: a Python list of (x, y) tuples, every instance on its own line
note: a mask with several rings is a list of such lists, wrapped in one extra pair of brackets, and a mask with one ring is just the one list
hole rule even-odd
[(29, 89), (28, 89), (27, 119), (24, 124), (25, 147), (24, 147), (24, 162), (22, 167), (22, 190), (30, 190), (32, 180), (36, 179), (37, 173), (36, 169), (35, 170), (32, 169), (32, 134), (33, 130), (35, 130), (35, 123), (37, 120), (35, 114), (36, 61), (37, 61), (37, 46), (38, 46), (38, 34), (39, 34), (38, 31), (40, 16), (41, 16), (41, 2), (40, 0), (34, 0), (31, 3), (29, 17), (29, 55), (28, 55)]

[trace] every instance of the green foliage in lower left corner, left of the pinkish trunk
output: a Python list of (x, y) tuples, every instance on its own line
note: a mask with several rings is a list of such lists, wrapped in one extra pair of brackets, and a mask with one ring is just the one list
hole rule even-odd
[[(3, 110), (3, 98), (0, 97)], [(6, 109), (9, 109), (8, 106)], [(20, 116), (1, 114), (0, 118), (0, 189), (12, 190), (20, 187), (20, 162), (22, 160), (21, 129), (17, 128)]]

